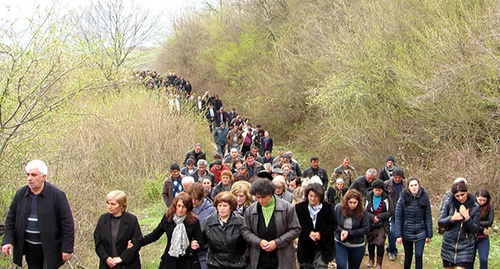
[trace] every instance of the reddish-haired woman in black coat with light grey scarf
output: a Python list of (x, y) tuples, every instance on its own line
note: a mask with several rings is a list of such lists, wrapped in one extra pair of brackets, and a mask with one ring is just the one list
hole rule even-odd
[(158, 226), (141, 240), (132, 241), (140, 247), (153, 243), (165, 233), (168, 238), (161, 257), (160, 269), (199, 269), (197, 252), (203, 243), (200, 222), (192, 212), (191, 196), (179, 193)]

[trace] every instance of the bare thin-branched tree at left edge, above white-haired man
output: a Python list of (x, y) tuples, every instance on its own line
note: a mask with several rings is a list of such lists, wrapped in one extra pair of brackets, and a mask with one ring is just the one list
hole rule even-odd
[(26, 151), (23, 141), (43, 132), (43, 119), (92, 84), (78, 79), (89, 61), (75, 45), (72, 26), (58, 16), (54, 9), (37, 10), (25, 28), (18, 21), (0, 25), (2, 165), (15, 162), (14, 156)]

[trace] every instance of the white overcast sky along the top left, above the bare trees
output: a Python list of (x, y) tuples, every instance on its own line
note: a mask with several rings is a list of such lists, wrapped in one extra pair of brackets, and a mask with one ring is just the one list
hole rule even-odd
[[(162, 14), (163, 24), (168, 30), (173, 25), (173, 18), (193, 8), (205, 6), (204, 3), (212, 2), (212, 0), (124, 0), (126, 5), (140, 3), (141, 6), (147, 8), (152, 14)], [(57, 2), (58, 10), (63, 12), (70, 9), (78, 9), (85, 6), (89, 0), (0, 0), (0, 23), (12, 22), (17, 20), (16, 24), (22, 28), (22, 21), (29, 18), (37, 6), (46, 9)]]

